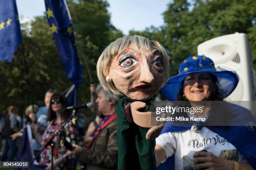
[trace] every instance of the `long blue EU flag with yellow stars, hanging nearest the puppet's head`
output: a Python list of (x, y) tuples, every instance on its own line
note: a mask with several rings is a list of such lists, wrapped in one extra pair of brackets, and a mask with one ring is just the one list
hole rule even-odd
[(82, 66), (74, 45), (74, 32), (71, 17), (64, 0), (45, 0), (47, 20), (53, 33), (55, 45), (69, 80), (76, 87), (82, 82)]

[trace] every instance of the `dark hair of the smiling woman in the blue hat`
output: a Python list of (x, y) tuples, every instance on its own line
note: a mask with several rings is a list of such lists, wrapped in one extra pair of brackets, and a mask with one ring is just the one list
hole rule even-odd
[[(221, 95), (221, 90), (218, 88), (217, 86), (217, 77), (215, 75), (210, 74), (212, 77), (212, 81), (215, 84), (215, 91), (212, 94), (212, 98), (211, 101), (223, 101), (224, 97)], [(182, 82), (182, 87), (184, 84), (184, 80)], [(187, 98), (183, 97), (183, 88), (181, 88), (181, 90), (179, 91), (179, 95), (177, 96), (177, 101), (187, 101)]]

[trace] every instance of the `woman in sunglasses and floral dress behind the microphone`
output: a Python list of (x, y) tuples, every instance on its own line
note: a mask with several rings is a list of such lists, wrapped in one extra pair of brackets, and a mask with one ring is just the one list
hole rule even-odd
[[(67, 99), (60, 93), (54, 93), (51, 96), (49, 112), (47, 115), (47, 121), (49, 121), (46, 130), (44, 131), (43, 136), (37, 132), (37, 128), (33, 128), (33, 134), (35, 138), (41, 143), (42, 147), (52, 138), (52, 136), (58, 131), (61, 130), (61, 125), (65, 122), (70, 116), (71, 112), (64, 110), (68, 106)], [(76, 126), (72, 121), (68, 122), (64, 131), (66, 134), (66, 139), (72, 144), (76, 144), (76, 136), (78, 131)], [(67, 148), (62, 145), (60, 135), (56, 135), (53, 140), (54, 143), (54, 169), (59, 167), (61, 169), (67, 168), (68, 170), (72, 169), (72, 160), (67, 155)], [(40, 163), (48, 164), (46, 170), (51, 169), (51, 146), (47, 146), (41, 153)]]

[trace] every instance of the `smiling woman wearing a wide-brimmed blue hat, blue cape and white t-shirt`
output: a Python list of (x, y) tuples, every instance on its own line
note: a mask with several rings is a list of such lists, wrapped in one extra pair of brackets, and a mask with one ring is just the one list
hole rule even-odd
[[(163, 94), (171, 101), (188, 101), (192, 108), (202, 105), (198, 101), (222, 101), (235, 90), (238, 80), (236, 72), (215, 67), (213, 61), (204, 55), (189, 56), (179, 65), (179, 74), (171, 77), (163, 87)], [(184, 112), (183, 118), (190, 118), (192, 125), (179, 127), (170, 123), (164, 126), (161, 135), (156, 138), (156, 165), (161, 163), (159, 170), (166, 169), (164, 166), (175, 170), (236, 170), (239, 167), (252, 170), (252, 166), (256, 166), (256, 142), (248, 140), (254, 138), (255, 132), (245, 126), (209, 123), (212, 120), (221, 122), (228, 116), (224, 125), (235, 119), (238, 119), (237, 122), (254, 121), (251, 113), (224, 101), (218, 103), (220, 109), (216, 112), (212, 103), (207, 102), (202, 112), (195, 112), (193, 116), (190, 116), (191, 111)], [(236, 112), (239, 114), (234, 114)], [(200, 119), (205, 121), (197, 122)]]

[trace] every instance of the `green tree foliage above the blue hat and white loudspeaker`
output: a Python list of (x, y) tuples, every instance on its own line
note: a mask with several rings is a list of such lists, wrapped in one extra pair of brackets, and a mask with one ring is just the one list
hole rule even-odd
[(160, 40), (171, 59), (171, 74), (179, 63), (197, 54), (197, 45), (206, 40), (235, 32), (246, 33), (256, 68), (255, 0), (173, 0), (164, 15), (164, 26), (146, 28), (130, 34)]

